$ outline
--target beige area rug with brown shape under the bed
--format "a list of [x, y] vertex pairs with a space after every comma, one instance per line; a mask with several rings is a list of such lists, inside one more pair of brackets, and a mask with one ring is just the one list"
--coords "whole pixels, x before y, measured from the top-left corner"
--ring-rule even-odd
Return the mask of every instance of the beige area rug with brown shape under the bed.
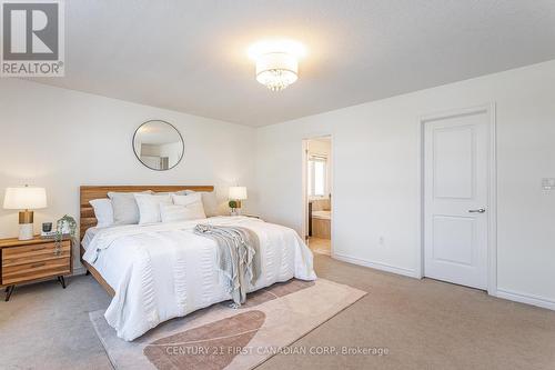
[[[133, 342], [117, 337], [103, 310], [89, 316], [118, 370], [244, 370], [285, 353], [289, 344], [365, 294], [324, 279], [293, 279], [249, 294], [240, 309], [214, 304], [164, 322]], [[310, 354], [317, 349], [295, 350]]]

